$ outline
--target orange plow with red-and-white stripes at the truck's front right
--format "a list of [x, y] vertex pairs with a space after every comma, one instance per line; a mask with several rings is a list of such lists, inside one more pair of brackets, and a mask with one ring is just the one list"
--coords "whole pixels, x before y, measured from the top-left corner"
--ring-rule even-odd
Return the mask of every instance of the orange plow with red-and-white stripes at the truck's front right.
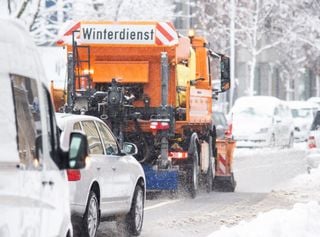
[[234, 192], [236, 181], [232, 171], [233, 151], [236, 142], [231, 139], [217, 140], [217, 158], [215, 162], [216, 174], [212, 188], [221, 192]]

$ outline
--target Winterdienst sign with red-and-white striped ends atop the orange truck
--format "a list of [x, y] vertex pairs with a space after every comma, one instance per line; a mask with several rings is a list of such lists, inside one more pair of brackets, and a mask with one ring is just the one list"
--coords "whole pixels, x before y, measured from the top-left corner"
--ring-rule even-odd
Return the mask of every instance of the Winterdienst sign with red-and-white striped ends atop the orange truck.
[[60, 31], [58, 45], [72, 44], [154, 45], [178, 44], [178, 34], [170, 22], [68, 22]]

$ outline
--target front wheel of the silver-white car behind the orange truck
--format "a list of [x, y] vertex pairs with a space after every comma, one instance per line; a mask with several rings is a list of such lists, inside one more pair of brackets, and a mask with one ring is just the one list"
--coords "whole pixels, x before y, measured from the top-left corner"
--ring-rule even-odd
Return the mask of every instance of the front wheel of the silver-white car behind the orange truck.
[[144, 191], [137, 185], [131, 203], [130, 211], [124, 217], [117, 219], [117, 226], [126, 236], [138, 236], [141, 233], [144, 216]]

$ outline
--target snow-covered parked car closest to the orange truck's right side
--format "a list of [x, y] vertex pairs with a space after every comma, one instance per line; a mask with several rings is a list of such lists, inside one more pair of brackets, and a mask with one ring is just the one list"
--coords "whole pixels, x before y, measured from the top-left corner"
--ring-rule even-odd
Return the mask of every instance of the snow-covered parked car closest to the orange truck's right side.
[[245, 96], [235, 101], [228, 117], [237, 147], [292, 147], [293, 120], [284, 101], [272, 96]]

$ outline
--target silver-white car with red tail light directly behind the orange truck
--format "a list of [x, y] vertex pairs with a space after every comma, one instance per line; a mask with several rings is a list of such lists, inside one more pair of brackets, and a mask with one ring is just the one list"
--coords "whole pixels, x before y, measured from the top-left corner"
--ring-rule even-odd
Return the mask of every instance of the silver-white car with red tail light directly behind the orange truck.
[[88, 165], [68, 170], [74, 232], [94, 237], [100, 220], [115, 217], [122, 231], [139, 235], [143, 224], [145, 175], [132, 156], [137, 147], [124, 143], [121, 150], [109, 127], [99, 118], [57, 113], [61, 144], [80, 130], [88, 138]]

